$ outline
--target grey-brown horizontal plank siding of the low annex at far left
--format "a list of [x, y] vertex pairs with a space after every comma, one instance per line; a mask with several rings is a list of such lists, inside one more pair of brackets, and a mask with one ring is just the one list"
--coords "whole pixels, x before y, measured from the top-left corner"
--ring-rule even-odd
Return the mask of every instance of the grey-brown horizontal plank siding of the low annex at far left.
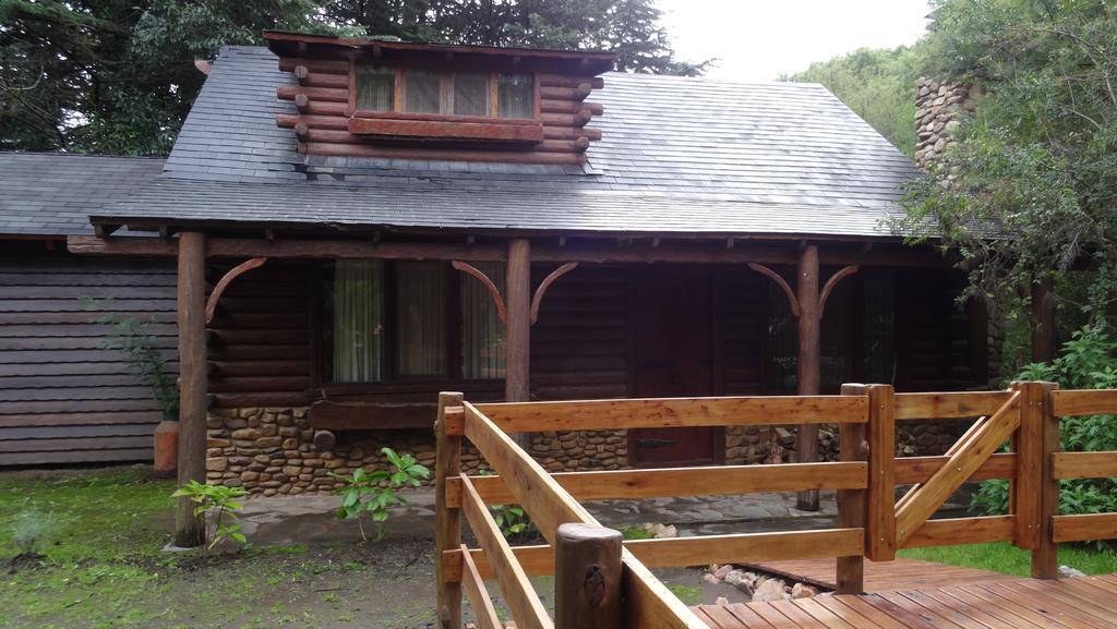
[[166, 260], [0, 258], [0, 465], [151, 458], [162, 414], [93, 320], [150, 322], [176, 369], [174, 283]]

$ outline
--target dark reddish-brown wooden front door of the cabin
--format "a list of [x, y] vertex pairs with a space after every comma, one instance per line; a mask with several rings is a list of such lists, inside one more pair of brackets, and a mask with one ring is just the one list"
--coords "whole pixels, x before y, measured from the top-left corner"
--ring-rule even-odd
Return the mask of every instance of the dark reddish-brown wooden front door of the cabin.
[[[634, 395], [713, 393], [713, 273], [696, 265], [650, 265], [637, 271], [633, 308]], [[725, 458], [720, 428], [629, 431], [634, 466], [700, 465]]]

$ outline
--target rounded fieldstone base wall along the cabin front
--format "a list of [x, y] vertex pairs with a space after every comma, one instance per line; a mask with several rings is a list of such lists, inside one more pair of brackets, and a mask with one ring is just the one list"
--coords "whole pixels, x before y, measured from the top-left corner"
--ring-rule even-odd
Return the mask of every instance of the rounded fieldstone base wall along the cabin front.
[[[306, 408], [217, 409], [210, 412], [207, 428], [207, 480], [265, 496], [331, 493], [336, 486], [331, 471], [385, 468], [388, 461], [380, 451], [385, 446], [414, 455], [427, 467], [435, 465], [435, 436], [429, 430], [338, 432], [331, 450], [318, 450]], [[964, 428], [964, 422], [954, 421], [900, 422], [897, 455], [941, 455]], [[837, 460], [834, 427], [821, 426], [819, 441], [820, 458]], [[790, 463], [794, 449], [793, 429], [733, 426], [725, 430], [728, 465]], [[631, 467], [626, 430], [538, 432], [529, 451], [551, 473]], [[467, 445], [461, 467], [477, 474], [488, 465]]]

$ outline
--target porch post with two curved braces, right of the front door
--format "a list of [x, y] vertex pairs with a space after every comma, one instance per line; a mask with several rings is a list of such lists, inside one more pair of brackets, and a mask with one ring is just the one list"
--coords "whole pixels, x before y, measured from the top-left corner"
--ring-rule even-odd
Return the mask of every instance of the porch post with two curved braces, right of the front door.
[[[796, 361], [800, 395], [818, 395], [821, 372], [819, 366], [821, 331], [819, 316], [819, 247], [806, 245], [799, 251], [796, 267], [796, 290], [799, 301], [799, 358]], [[819, 426], [799, 427], [795, 440], [799, 463], [813, 463], [819, 458]], [[819, 511], [819, 492], [811, 489], [799, 493], [796, 506], [802, 511]]]

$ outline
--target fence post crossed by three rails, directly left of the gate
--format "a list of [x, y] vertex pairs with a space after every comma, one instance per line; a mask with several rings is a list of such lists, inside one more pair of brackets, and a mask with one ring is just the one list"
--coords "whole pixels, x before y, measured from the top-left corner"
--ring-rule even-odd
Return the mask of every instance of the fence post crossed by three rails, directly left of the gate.
[[[842, 395], [868, 395], [865, 384], [842, 384]], [[869, 413], [871, 417], [871, 412]], [[839, 458], [843, 461], [869, 459], [868, 429], [865, 423], [842, 423], [839, 428], [841, 439]], [[868, 518], [868, 492], [866, 489], [838, 490], [838, 526], [842, 528], [863, 528]], [[837, 583], [839, 594], [860, 594], [865, 592], [865, 557], [840, 556], [837, 566]]]

